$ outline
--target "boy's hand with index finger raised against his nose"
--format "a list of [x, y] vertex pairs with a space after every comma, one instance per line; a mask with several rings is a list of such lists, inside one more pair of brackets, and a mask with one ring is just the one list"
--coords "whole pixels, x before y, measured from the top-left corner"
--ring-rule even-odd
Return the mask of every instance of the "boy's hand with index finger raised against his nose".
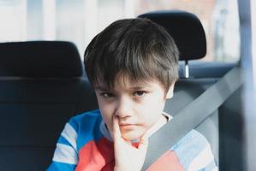
[[113, 132], [115, 150], [114, 171], [140, 171], [146, 158], [148, 137], [144, 135], [140, 138], [138, 148], [126, 139], [122, 139], [118, 118], [113, 116]]

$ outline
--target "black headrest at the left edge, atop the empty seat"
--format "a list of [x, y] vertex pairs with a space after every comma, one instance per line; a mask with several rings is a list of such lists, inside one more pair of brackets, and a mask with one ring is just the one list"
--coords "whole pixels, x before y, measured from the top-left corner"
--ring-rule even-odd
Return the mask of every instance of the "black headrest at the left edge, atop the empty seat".
[[67, 78], [82, 74], [79, 52], [70, 42], [0, 43], [0, 76]]

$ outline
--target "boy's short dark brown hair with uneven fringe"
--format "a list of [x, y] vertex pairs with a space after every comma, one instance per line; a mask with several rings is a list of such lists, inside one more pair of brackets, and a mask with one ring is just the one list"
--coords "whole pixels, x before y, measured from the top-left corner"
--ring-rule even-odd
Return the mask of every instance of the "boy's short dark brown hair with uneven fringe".
[[92, 39], [85, 52], [86, 74], [92, 85], [112, 87], [116, 75], [134, 81], [158, 80], [167, 92], [178, 79], [179, 52], [163, 27], [147, 19], [115, 21]]

